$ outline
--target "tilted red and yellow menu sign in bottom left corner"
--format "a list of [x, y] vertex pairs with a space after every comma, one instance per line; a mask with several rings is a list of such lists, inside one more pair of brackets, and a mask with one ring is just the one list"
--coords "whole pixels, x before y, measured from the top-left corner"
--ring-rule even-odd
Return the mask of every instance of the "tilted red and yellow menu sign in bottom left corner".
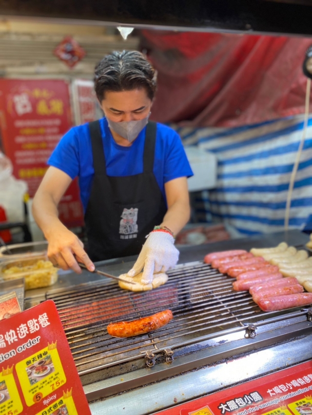
[[52, 300], [0, 322], [0, 415], [91, 415]]

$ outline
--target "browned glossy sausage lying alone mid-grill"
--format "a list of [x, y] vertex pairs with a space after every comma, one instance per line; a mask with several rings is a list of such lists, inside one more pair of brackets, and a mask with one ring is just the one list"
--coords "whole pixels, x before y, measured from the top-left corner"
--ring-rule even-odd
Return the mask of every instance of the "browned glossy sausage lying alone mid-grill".
[[171, 310], [160, 311], [138, 320], [110, 323], [107, 326], [107, 332], [113, 337], [138, 336], [168, 324], [173, 318]]

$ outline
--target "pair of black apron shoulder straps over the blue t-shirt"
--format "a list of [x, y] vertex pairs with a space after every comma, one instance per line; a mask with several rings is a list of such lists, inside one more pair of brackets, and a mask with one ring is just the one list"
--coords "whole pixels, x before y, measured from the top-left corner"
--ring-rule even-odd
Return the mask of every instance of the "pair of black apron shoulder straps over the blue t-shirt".
[[[106, 175], [105, 154], [99, 121], [97, 120], [90, 122], [89, 129], [91, 137], [94, 172], [95, 174]], [[156, 130], [157, 124], [154, 121], [149, 121], [146, 126], [145, 133], [143, 173], [153, 173]]]

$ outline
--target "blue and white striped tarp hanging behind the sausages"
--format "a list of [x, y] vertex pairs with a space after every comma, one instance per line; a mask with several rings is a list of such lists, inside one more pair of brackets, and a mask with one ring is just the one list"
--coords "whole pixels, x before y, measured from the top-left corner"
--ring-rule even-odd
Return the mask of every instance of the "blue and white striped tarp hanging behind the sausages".
[[[198, 145], [217, 156], [217, 186], [201, 192], [195, 201], [200, 221], [223, 221], [240, 235], [284, 229], [302, 115], [253, 126], [176, 129], [185, 146]], [[302, 229], [311, 214], [312, 118], [295, 178], [289, 228]]]

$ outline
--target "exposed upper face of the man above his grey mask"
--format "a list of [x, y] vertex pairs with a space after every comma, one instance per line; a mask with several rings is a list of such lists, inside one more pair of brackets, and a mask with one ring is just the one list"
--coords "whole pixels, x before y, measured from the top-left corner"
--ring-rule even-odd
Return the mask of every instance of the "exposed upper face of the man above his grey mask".
[[138, 121], [146, 118], [152, 107], [152, 101], [144, 88], [105, 92], [101, 108], [107, 118], [117, 123]]

